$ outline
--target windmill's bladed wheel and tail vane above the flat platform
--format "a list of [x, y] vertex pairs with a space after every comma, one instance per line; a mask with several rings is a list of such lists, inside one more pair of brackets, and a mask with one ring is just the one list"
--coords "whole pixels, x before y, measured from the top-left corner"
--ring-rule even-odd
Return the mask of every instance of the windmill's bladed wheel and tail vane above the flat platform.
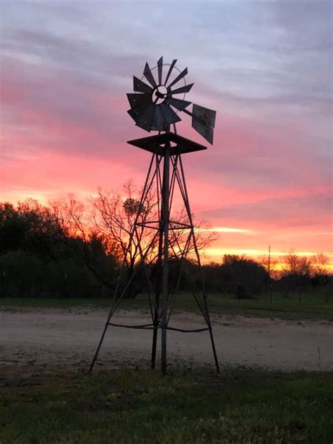
[[[192, 128], [213, 144], [216, 111], [184, 100], [194, 84], [186, 84], [188, 69], [178, 70], [176, 62], [164, 64], [161, 57], [152, 69], [145, 64], [141, 79], [133, 76], [134, 93], [127, 94], [131, 107], [128, 113], [136, 126], [150, 132], [168, 131], [181, 122], [179, 112], [184, 112], [192, 117]], [[187, 109], [190, 105], [192, 112]]]

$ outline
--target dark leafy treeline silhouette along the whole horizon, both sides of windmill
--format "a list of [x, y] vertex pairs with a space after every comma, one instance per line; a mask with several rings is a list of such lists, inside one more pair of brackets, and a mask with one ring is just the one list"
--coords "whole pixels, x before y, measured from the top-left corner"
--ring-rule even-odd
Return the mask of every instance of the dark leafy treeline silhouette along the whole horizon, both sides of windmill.
[[[129, 203], [131, 211], [136, 207], [133, 197], [131, 202], [112, 199], [115, 206], [120, 207], [119, 214], [125, 211], [124, 216], [129, 221]], [[59, 205], [46, 207], [31, 199], [16, 206], [8, 202], [0, 204], [1, 296], [112, 296], [124, 259], [124, 246], [120, 243], [123, 241], [117, 241], [117, 237], [108, 235], [105, 230], [98, 230], [98, 226], [84, 231], [78, 212], [67, 211], [67, 216], [69, 214], [72, 221], [76, 221], [74, 226], [65, 223]], [[209, 242], [211, 239], [203, 241], [202, 246]], [[190, 291], [199, 281], [197, 266], [190, 260], [185, 262], [187, 273], [183, 273], [179, 283], [182, 292]], [[306, 258], [290, 253], [277, 274], [275, 264], [267, 257], [259, 262], [228, 254], [223, 256], [221, 263], [204, 265], [203, 274], [208, 292], [251, 299], [263, 292], [272, 292], [274, 288], [288, 296], [289, 292], [301, 294], [309, 287], [325, 287], [328, 292], [332, 278], [327, 272], [327, 263], [323, 254]], [[124, 281], [136, 266], [134, 257], [129, 261]], [[171, 260], [171, 286], [176, 287], [181, 266], [179, 259]], [[143, 292], [144, 280], [143, 270], [138, 270], [126, 296], [135, 297]]]

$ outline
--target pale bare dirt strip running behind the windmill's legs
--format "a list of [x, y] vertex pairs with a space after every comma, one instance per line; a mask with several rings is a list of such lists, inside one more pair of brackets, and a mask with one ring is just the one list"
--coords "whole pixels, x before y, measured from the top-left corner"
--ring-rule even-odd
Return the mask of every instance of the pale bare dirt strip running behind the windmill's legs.
[[[0, 311], [0, 381], [16, 375], [52, 372], [55, 367], [86, 370], [96, 350], [107, 311], [92, 308], [2, 309]], [[113, 322], [150, 323], [150, 315], [120, 311]], [[221, 365], [275, 370], [333, 370], [332, 323], [213, 315]], [[170, 326], [204, 327], [199, 315], [176, 313]], [[149, 365], [151, 330], [109, 327], [96, 369]], [[173, 364], [212, 365], [208, 332], [168, 332]]]

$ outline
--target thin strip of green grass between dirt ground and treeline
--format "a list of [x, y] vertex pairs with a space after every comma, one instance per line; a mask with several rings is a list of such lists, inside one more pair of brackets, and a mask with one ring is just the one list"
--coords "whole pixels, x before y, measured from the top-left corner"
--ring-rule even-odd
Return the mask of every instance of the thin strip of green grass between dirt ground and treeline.
[[[320, 294], [304, 294], [301, 302], [298, 294], [285, 298], [280, 294], [273, 295], [273, 303], [266, 296], [259, 299], [237, 300], [227, 295], [209, 294], [209, 309], [211, 313], [225, 315], [259, 316], [266, 318], [281, 318], [290, 320], [320, 319], [333, 320], [333, 300], [328, 302]], [[93, 308], [110, 307], [111, 299], [97, 298], [3, 298], [2, 307], [28, 308], [73, 308], [90, 306]], [[119, 308], [148, 310], [148, 299], [144, 295], [136, 299], [124, 299]], [[190, 294], [179, 294], [174, 301], [176, 310], [195, 311], [197, 306]]]

